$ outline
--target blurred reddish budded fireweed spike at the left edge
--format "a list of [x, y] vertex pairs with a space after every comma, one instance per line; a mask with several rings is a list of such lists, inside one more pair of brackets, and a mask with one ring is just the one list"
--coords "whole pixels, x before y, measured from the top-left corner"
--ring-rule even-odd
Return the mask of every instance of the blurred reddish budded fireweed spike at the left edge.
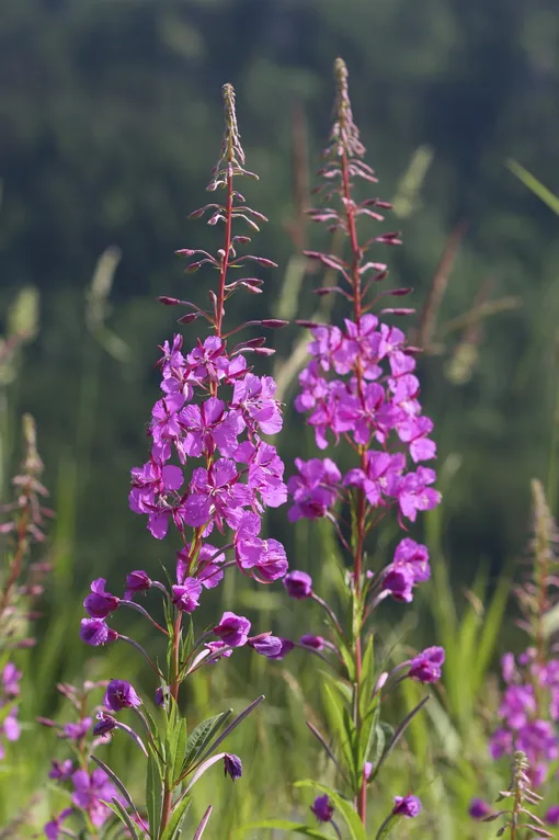
[[35, 645], [32, 623], [38, 617], [35, 601], [43, 592], [43, 580], [50, 570], [44, 559], [35, 560], [33, 553], [44, 542], [45, 519], [53, 511], [45, 508], [48, 496], [41, 483], [43, 462], [38, 455], [35, 422], [23, 416], [25, 455], [12, 479], [14, 498], [0, 507], [3, 522], [0, 535], [5, 535], [5, 565], [0, 571], [0, 761], [8, 758], [8, 742], [20, 737], [18, 697], [23, 676], [22, 657]]

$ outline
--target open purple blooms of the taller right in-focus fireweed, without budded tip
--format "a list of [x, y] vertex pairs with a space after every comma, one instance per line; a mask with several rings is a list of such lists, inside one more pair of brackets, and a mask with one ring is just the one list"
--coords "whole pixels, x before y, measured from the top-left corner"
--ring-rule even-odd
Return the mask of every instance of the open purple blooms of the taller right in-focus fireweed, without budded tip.
[[312, 359], [299, 376], [295, 406], [308, 413], [320, 449], [329, 436], [334, 443], [344, 438], [366, 449], [366, 456], [343, 477], [330, 458], [297, 459], [298, 475], [288, 484], [295, 502], [289, 517], [323, 517], [343, 488], [360, 487], [373, 508], [398, 506], [399, 517], [414, 522], [418, 511], [441, 500], [431, 486], [433, 469], [408, 469], [408, 455], [414, 465], [436, 455], [429, 438], [433, 423], [421, 413], [415, 359], [403, 332], [372, 314], [344, 323], [344, 329], [313, 328]]

